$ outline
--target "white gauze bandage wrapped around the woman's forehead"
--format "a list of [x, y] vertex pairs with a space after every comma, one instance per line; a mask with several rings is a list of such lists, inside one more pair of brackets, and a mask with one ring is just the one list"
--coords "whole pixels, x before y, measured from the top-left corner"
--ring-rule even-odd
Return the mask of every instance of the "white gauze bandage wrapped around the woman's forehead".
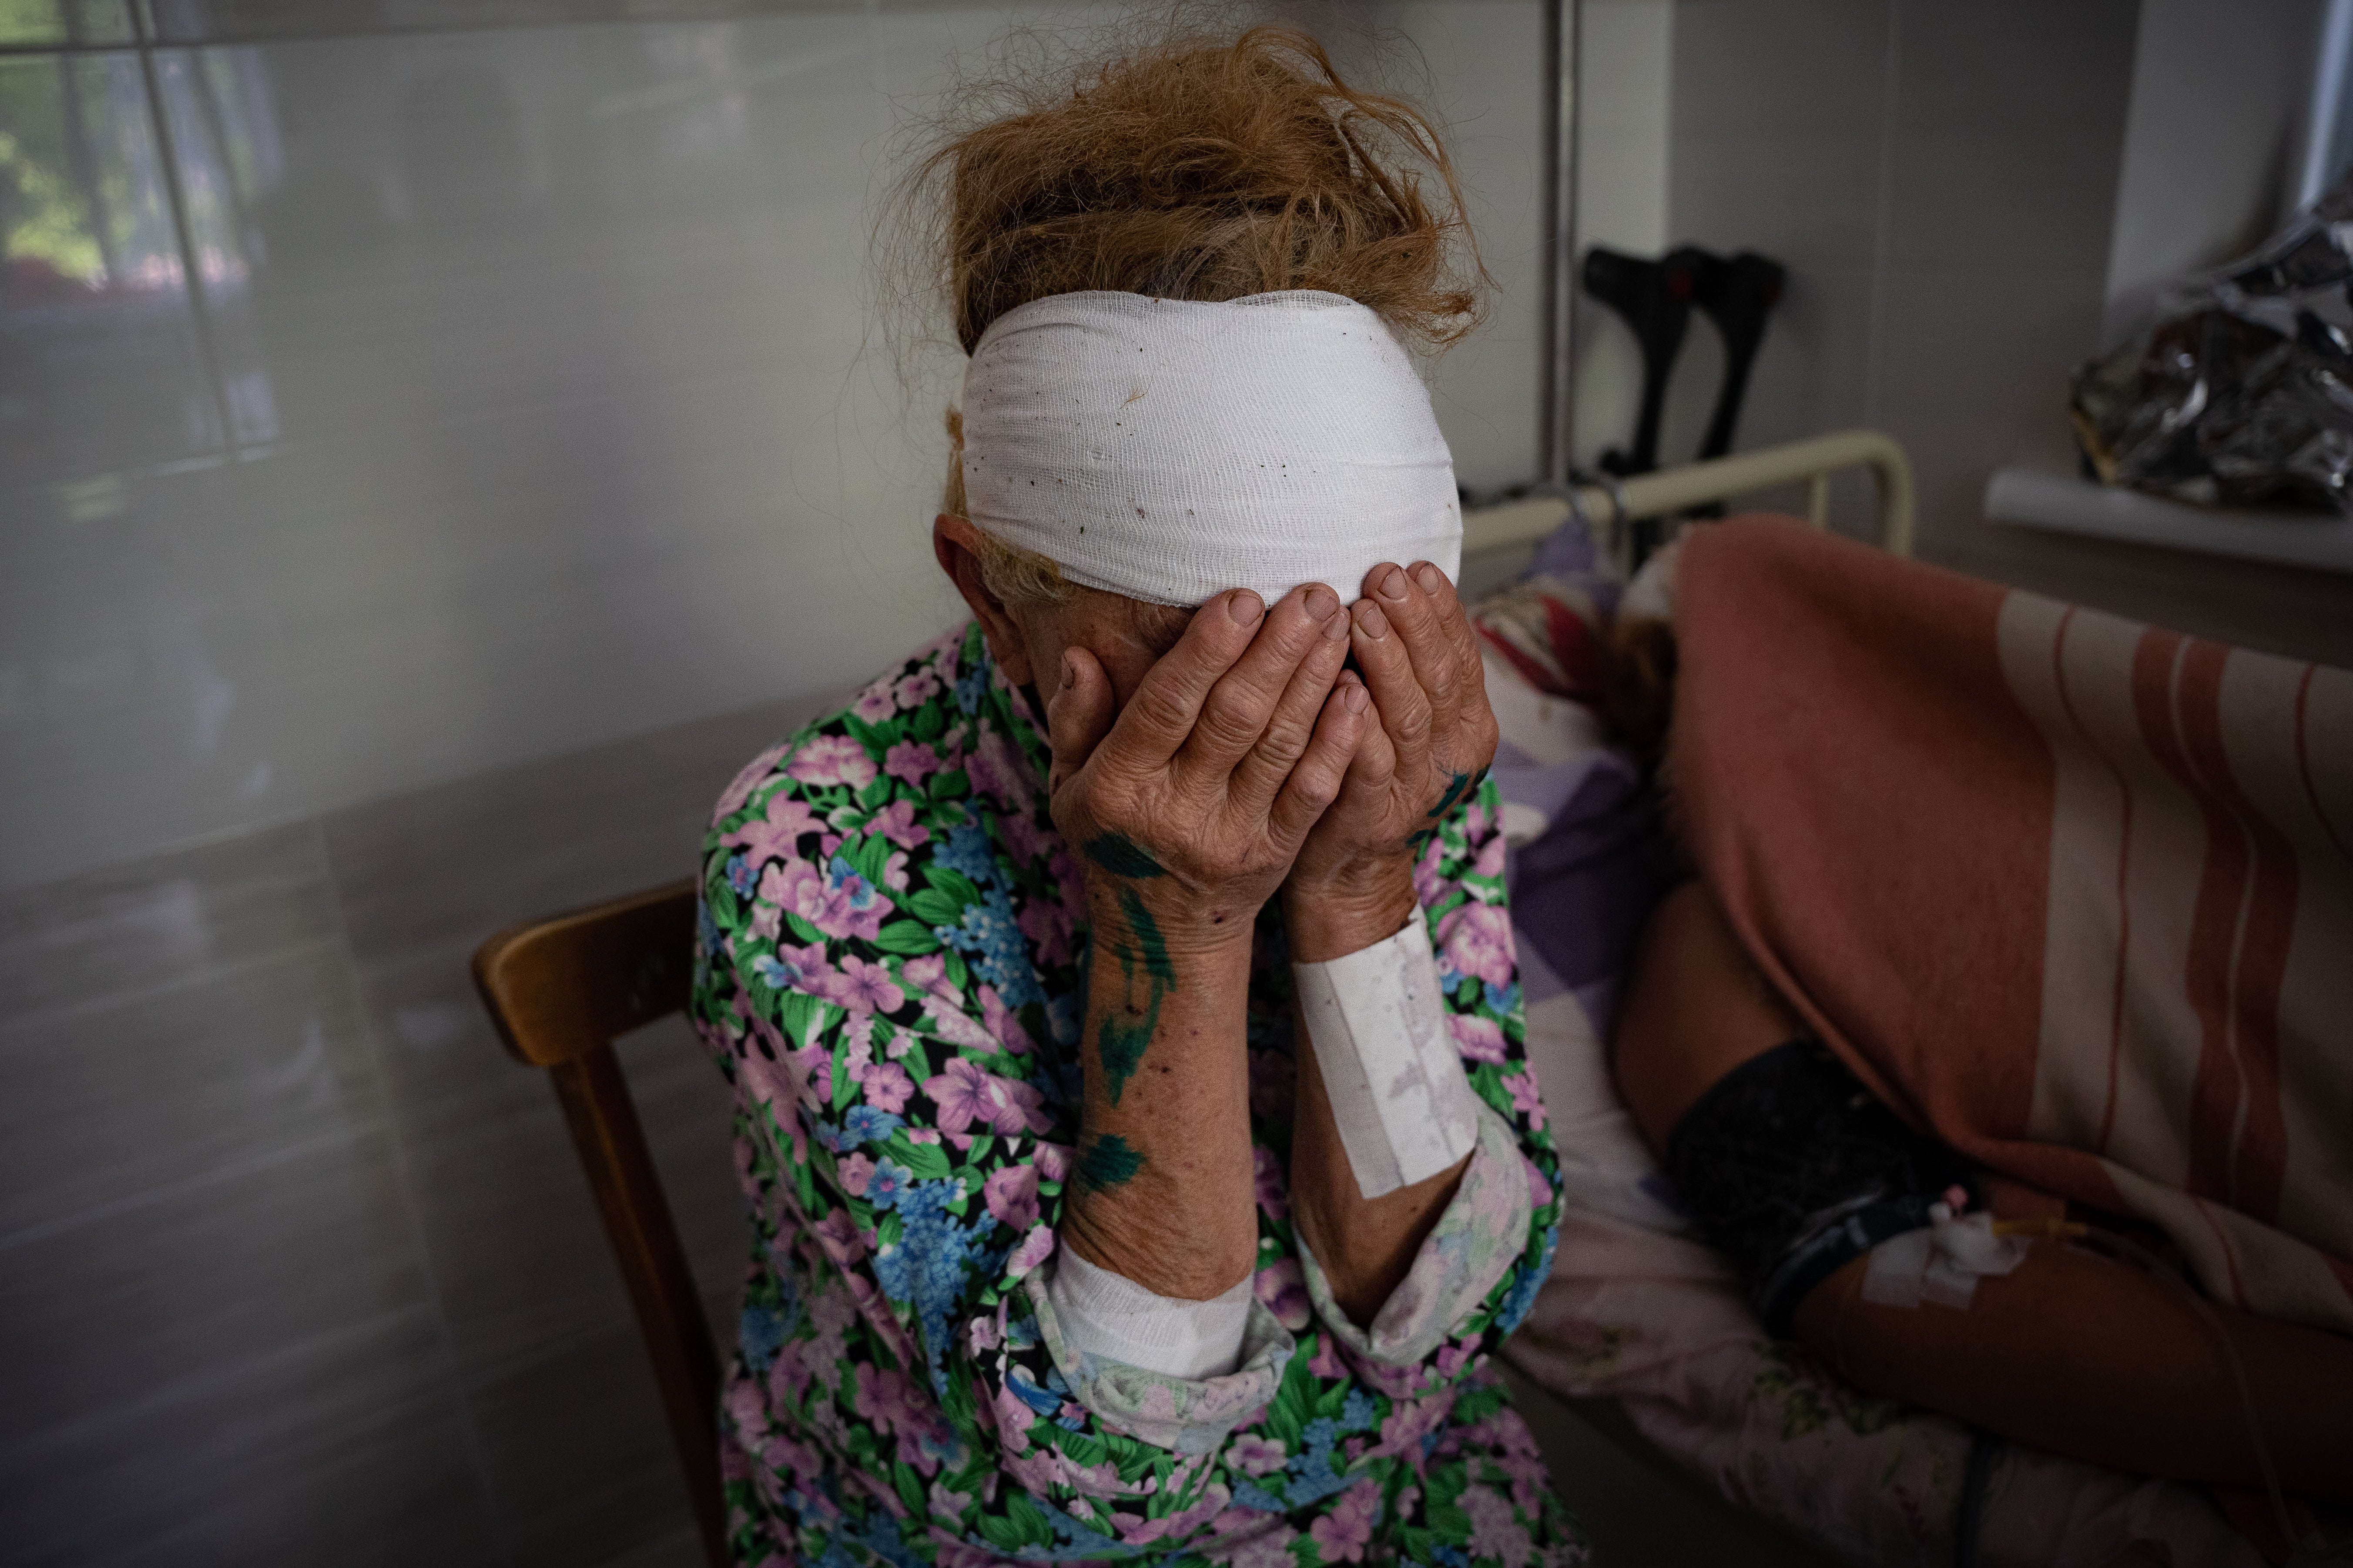
[[1461, 567], [1454, 456], [1379, 315], [1315, 289], [1054, 294], [965, 367], [965, 510], [1073, 583], [1148, 604], [1379, 562]]

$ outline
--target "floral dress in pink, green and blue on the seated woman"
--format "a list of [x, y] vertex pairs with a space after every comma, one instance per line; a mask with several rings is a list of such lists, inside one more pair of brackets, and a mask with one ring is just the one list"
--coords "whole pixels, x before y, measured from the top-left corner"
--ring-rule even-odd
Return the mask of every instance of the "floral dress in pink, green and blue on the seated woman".
[[1480, 1150], [1351, 1324], [1292, 1232], [1292, 994], [1259, 922], [1242, 1366], [1073, 1352], [1040, 1265], [1078, 1135], [1087, 919], [1047, 748], [976, 625], [755, 759], [704, 842], [692, 1016], [753, 1215], [722, 1392], [741, 1563], [1572, 1563], [1487, 1356], [1558, 1234], [1494, 785], [1417, 865]]

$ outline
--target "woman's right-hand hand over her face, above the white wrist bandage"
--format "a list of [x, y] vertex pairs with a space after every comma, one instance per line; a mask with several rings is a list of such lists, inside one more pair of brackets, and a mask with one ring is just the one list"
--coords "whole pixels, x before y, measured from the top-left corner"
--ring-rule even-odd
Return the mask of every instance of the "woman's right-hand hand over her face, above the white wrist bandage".
[[1447, 576], [1428, 562], [1409, 574], [1374, 567], [1351, 618], [1379, 724], [1367, 726], [1339, 799], [1299, 851], [1292, 898], [1351, 900], [1398, 886], [1494, 762], [1487, 670]]

